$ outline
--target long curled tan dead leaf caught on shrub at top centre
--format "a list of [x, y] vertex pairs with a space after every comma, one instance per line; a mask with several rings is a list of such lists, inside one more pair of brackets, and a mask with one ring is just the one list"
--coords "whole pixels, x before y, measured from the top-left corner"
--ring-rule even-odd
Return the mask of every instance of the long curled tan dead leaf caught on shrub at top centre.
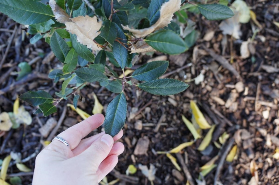
[[[144, 29], [133, 29], [129, 28], [127, 24], [123, 24], [122, 27], [125, 30], [130, 31], [136, 38], [143, 38], [149, 35], [153, 31], [159, 30], [160, 28], [166, 27], [171, 23], [173, 14], [180, 9], [181, 0], [169, 0], [162, 4], [160, 8], [160, 17], [152, 26]], [[154, 19], [155, 20], [155, 19]], [[124, 26], [126, 25], [126, 26]]]

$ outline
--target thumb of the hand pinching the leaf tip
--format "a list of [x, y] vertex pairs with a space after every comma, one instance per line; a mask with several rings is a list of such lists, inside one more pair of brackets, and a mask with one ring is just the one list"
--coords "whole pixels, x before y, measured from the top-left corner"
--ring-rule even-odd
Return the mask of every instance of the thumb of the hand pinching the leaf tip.
[[84, 159], [89, 160], [91, 164], [93, 163], [93, 169], [97, 170], [101, 162], [107, 158], [112, 146], [113, 138], [108, 134], [104, 134], [96, 139], [79, 157], [83, 161]]

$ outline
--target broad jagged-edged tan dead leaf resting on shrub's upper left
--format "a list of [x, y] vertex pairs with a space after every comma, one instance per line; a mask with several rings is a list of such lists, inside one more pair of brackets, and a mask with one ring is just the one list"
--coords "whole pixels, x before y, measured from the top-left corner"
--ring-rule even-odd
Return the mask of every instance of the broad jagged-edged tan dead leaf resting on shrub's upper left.
[[49, 0], [49, 6], [51, 7], [53, 14], [57, 21], [64, 23], [66, 29], [71, 34], [77, 35], [77, 41], [87, 48], [92, 50], [102, 50], [101, 47], [94, 42], [94, 39], [101, 33], [99, 30], [102, 27], [102, 21], [97, 21], [97, 17], [78, 16], [70, 18], [66, 12], [60, 8], [55, 0]]

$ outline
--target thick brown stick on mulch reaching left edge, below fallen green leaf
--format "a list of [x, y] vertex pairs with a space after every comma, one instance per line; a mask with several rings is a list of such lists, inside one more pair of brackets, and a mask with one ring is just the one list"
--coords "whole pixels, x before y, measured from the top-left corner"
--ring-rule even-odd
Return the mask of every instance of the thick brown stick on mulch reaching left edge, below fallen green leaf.
[[13, 83], [11, 85], [9, 85], [8, 87], [0, 89], [0, 95], [5, 94], [6, 92], [9, 92], [9, 91], [13, 90], [18, 85], [25, 84], [28, 81], [32, 81], [32, 80], [35, 80], [35, 79], [38, 79], [38, 78], [50, 80], [48, 75], [42, 74], [42, 73], [38, 73], [38, 72], [34, 72], [34, 73], [31, 73], [31, 74], [25, 76], [21, 80]]

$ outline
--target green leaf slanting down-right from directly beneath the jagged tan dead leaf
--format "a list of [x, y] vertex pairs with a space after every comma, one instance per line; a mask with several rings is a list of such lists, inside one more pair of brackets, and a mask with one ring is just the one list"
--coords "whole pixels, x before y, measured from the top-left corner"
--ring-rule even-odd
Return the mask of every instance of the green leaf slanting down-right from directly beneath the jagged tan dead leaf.
[[74, 50], [78, 53], [79, 56], [81, 56], [83, 59], [89, 62], [94, 62], [95, 60], [94, 54], [91, 51], [89, 51], [89, 49], [85, 45], [77, 41], [76, 35], [71, 34], [71, 42], [74, 47]]

